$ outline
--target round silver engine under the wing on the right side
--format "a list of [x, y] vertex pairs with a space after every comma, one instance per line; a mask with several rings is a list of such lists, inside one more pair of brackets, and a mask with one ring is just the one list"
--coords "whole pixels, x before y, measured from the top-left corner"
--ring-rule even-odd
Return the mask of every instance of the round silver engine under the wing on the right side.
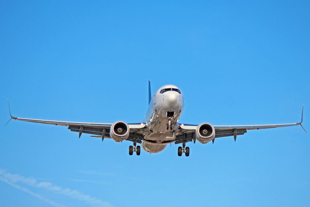
[[200, 143], [206, 144], [215, 137], [215, 129], [212, 124], [209, 123], [199, 124], [195, 131], [195, 136]]

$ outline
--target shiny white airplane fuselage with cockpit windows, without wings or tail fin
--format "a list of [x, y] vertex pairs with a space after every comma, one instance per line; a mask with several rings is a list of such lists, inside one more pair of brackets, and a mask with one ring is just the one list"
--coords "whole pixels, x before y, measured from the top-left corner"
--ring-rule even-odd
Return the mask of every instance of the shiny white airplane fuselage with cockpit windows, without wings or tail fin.
[[157, 153], [174, 142], [174, 132], [179, 127], [178, 121], [183, 108], [183, 93], [175, 85], [162, 86], [154, 93], [144, 117], [148, 128], [142, 143], [145, 151]]

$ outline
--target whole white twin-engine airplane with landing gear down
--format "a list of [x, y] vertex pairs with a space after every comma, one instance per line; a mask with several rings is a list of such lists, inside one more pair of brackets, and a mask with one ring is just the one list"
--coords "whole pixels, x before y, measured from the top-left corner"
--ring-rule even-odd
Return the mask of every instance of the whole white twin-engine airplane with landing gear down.
[[[91, 137], [100, 137], [102, 141], [104, 138], [111, 138], [116, 142], [131, 141], [133, 145], [129, 146], [129, 155], [132, 155], [133, 152], [136, 152], [136, 155], [140, 155], [141, 147], [137, 146], [137, 143], [141, 144], [142, 149], [149, 153], [163, 151], [168, 144], [173, 142], [175, 144], [182, 143], [182, 147], [178, 147], [178, 156], [181, 156], [183, 153], [185, 156], [189, 156], [189, 147], [185, 147], [187, 142], [195, 144], [196, 140], [198, 140], [202, 144], [210, 141], [214, 143], [215, 138], [228, 136], [233, 136], [236, 142], [237, 136], [243, 135], [247, 130], [296, 125], [300, 125], [303, 128], [301, 125], [303, 122], [303, 109], [299, 123], [225, 126], [216, 126], [206, 122], [199, 125], [179, 124], [179, 118], [183, 109], [184, 96], [180, 88], [175, 85], [165, 85], [159, 88], [152, 97], [149, 80], [148, 109], [142, 123], [127, 124], [124, 121], [116, 121], [111, 124], [105, 124], [19, 118], [11, 115], [10, 106], [9, 113], [11, 119], [15, 120], [67, 126], [71, 131], [78, 132], [79, 138], [82, 133], [86, 133], [91, 134]], [[303, 130], [305, 129], [303, 128]]]

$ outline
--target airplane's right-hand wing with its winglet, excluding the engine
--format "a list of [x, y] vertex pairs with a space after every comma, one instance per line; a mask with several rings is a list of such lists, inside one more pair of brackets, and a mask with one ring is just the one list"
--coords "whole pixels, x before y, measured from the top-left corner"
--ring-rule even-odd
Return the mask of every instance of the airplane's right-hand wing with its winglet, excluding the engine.
[[[212, 143], [214, 143], [215, 138], [229, 137], [229, 136], [233, 136], [236, 141], [237, 135], [242, 135], [246, 133], [247, 130], [252, 130], [252, 129], [268, 129], [268, 128], [289, 127], [289, 126], [297, 126], [297, 125], [300, 125], [303, 128], [303, 126], [301, 125], [302, 122], [303, 122], [303, 110], [301, 114], [301, 121], [299, 123], [264, 124], [264, 125], [216, 125], [216, 126], [213, 126], [215, 129], [215, 137], [212, 140]], [[185, 142], [193, 141], [195, 143], [196, 141], [195, 131], [196, 131], [197, 126], [198, 125], [181, 124], [179, 126], [180, 134], [176, 136], [175, 144], [182, 143], [184, 140]], [[303, 128], [303, 130], [305, 129]]]

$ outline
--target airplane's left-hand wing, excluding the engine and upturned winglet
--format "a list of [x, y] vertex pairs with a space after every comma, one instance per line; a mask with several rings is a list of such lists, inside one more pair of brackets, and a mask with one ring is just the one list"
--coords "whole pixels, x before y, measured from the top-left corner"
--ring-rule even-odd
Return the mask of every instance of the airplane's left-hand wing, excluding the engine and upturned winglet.
[[[11, 112], [10, 112], [11, 116]], [[102, 137], [102, 141], [104, 138], [110, 138], [110, 127], [112, 124], [106, 123], [88, 123], [88, 122], [70, 122], [70, 121], [54, 121], [54, 120], [44, 120], [44, 119], [27, 119], [27, 118], [19, 118], [11, 116], [11, 119], [20, 120], [20, 121], [28, 121], [34, 123], [42, 123], [42, 124], [53, 124], [60, 126], [68, 126], [68, 129], [72, 132], [78, 132], [79, 138], [82, 133], [97, 135], [95, 137]], [[10, 119], [10, 120], [11, 120]], [[126, 139], [128, 141], [133, 142], [134, 133], [137, 139], [137, 143], [141, 143], [144, 135], [144, 128], [146, 126], [145, 123], [138, 124], [128, 124], [130, 132], [129, 137]]]

